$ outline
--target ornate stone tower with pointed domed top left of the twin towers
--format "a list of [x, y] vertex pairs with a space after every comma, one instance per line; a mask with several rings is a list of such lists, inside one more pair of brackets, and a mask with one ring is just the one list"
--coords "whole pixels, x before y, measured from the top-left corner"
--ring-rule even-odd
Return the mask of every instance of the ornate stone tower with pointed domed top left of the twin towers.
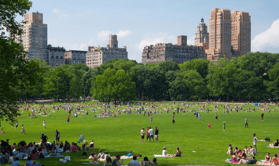
[[205, 25], [203, 18], [197, 27], [197, 32], [195, 36], [195, 45], [203, 46], [204, 50], [208, 49], [208, 32], [207, 32], [207, 25]]

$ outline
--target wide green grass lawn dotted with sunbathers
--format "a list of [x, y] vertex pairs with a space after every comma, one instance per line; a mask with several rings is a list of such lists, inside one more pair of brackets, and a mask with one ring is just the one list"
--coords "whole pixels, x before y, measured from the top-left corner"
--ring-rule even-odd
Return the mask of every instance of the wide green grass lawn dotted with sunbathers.
[[[90, 101], [87, 101], [90, 103]], [[92, 103], [92, 102], [91, 102]], [[90, 103], [90, 104], [91, 104]], [[185, 103], [185, 102], [183, 102]], [[55, 103], [58, 104], [57, 102]], [[64, 105], [63, 103], [59, 103]], [[77, 104], [77, 103], [74, 103]], [[96, 101], [95, 101], [96, 104]], [[159, 102], [156, 104], [160, 104]], [[163, 110], [163, 107], [172, 106], [177, 108], [181, 106], [181, 102], [162, 103], [159, 110]], [[38, 104], [34, 104], [36, 107]], [[203, 104], [202, 104], [203, 105]], [[190, 106], [187, 110], [197, 110], [202, 105]], [[116, 118], [94, 118], [94, 112], [90, 110], [89, 115], [79, 115], [83, 118], [74, 118], [71, 115], [70, 124], [67, 122], [68, 112], [64, 112], [60, 108], [59, 111], [51, 113], [51, 116], [42, 117], [38, 115], [38, 118], [29, 118], [28, 112], [21, 113], [21, 117], [18, 117], [18, 129], [15, 130], [15, 126], [10, 126], [5, 121], [2, 121], [1, 128], [4, 129], [5, 134], [0, 134], [1, 140], [9, 139], [10, 144], [14, 142], [25, 140], [29, 142], [39, 142], [41, 134], [44, 133], [49, 137], [48, 141], [55, 140], [54, 132], [57, 129], [60, 132], [60, 141], [65, 142], [77, 142], [81, 134], [84, 135], [84, 140], [94, 140], [95, 148], [90, 148], [87, 151], [87, 157], [81, 156], [82, 152], [78, 153], [62, 153], [64, 155], [71, 156], [71, 162], [67, 162], [67, 165], [81, 165], [83, 162], [88, 162], [86, 159], [90, 155], [90, 152], [94, 149], [96, 152], [99, 149], [108, 151], [111, 156], [127, 155], [129, 151], [133, 151], [133, 154], [142, 154], [139, 161], [143, 160], [144, 156], [147, 156], [152, 161], [153, 154], [162, 154], [164, 146], [167, 147], [167, 154], [175, 154], [176, 148], [179, 147], [183, 152], [183, 156], [180, 158], [157, 158], [159, 165], [186, 165], [186, 164], [207, 164], [207, 165], [231, 165], [226, 163], [227, 158], [231, 158], [226, 154], [228, 145], [232, 144], [233, 148], [244, 149], [245, 145], [250, 146], [252, 144], [252, 135], [256, 133], [259, 140], [269, 137], [273, 143], [278, 136], [278, 106], [270, 105], [271, 111], [268, 112], [242, 112], [236, 111], [229, 113], [229, 115], [223, 114], [224, 104], [219, 104], [220, 110], [217, 111], [218, 121], [215, 120], [215, 111], [212, 104], [208, 105], [209, 114], [207, 112], [201, 112], [202, 121], [198, 121], [198, 118], [194, 117], [194, 112], [176, 112], [176, 123], [172, 125], [172, 112], [170, 108], [169, 115], [166, 112], [151, 114], [153, 116], [153, 124], [150, 124], [148, 115], [143, 117], [143, 114], [135, 114], [136, 110], [132, 110], [132, 115], [127, 114], [117, 115]], [[233, 104], [231, 104], [233, 105]], [[238, 104], [241, 105], [241, 104]], [[134, 105], [135, 106], [135, 105]], [[120, 108], [126, 108], [126, 105], [120, 106]], [[148, 105], [150, 107], [150, 105]], [[243, 108], [246, 110], [248, 107], [251, 109], [255, 106], [245, 105]], [[90, 109], [91, 107], [85, 107]], [[52, 110], [52, 107], [50, 107]], [[102, 109], [97, 109], [99, 113]], [[111, 108], [112, 111], [115, 109]], [[21, 110], [22, 111], [22, 110]], [[85, 111], [82, 111], [85, 112]], [[264, 113], [264, 121], [261, 121], [261, 114]], [[248, 117], [249, 128], [244, 128], [245, 118]], [[43, 120], [46, 120], [46, 129], [43, 129]], [[226, 122], [226, 129], [223, 131], [223, 120]], [[211, 128], [207, 128], [208, 122], [211, 124]], [[20, 133], [21, 124], [25, 126], [25, 134]], [[141, 143], [140, 130], [144, 127], [151, 126], [155, 130], [155, 127], [159, 129], [159, 142], [146, 142], [146, 138]], [[145, 136], [146, 137], [146, 136]], [[258, 141], [257, 150], [259, 152], [256, 155], [257, 160], [264, 160], [267, 152], [270, 152], [271, 156], [279, 151], [277, 148], [268, 148], [269, 142]], [[81, 146], [81, 144], [79, 144]], [[195, 152], [193, 152], [195, 151]], [[49, 166], [63, 165], [59, 162], [59, 157], [38, 159], [41, 164]], [[128, 164], [131, 159], [124, 159], [123, 164]], [[21, 160], [20, 165], [25, 164], [26, 160]], [[2, 164], [2, 166], [11, 164]], [[65, 164], [66, 165], [66, 164]]]

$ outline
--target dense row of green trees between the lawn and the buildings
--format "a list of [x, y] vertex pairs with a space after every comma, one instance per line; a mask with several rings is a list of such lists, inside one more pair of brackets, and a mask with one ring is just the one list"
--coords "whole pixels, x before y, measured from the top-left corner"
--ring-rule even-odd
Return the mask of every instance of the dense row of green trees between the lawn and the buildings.
[[51, 68], [44, 61], [31, 61], [44, 68], [44, 79], [29, 97], [258, 101], [279, 94], [279, 55], [267, 52], [249, 52], [231, 61], [219, 58], [215, 63], [194, 59], [179, 65], [172, 61], [143, 65], [114, 58], [94, 68], [85, 64]]

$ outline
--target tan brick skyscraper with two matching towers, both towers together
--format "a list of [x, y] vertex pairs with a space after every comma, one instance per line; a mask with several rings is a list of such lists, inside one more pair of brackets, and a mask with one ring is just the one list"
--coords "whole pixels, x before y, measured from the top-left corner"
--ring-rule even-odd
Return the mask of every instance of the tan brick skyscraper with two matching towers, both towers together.
[[231, 13], [214, 8], [209, 18], [208, 60], [239, 57], [251, 51], [251, 22], [248, 12]]

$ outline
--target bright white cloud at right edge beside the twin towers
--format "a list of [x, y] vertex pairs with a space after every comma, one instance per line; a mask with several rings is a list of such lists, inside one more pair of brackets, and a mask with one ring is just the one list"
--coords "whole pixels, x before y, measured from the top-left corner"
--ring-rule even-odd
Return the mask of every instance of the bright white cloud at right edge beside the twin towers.
[[258, 34], [251, 42], [251, 51], [268, 51], [266, 48], [279, 47], [279, 19], [275, 20], [271, 27]]

